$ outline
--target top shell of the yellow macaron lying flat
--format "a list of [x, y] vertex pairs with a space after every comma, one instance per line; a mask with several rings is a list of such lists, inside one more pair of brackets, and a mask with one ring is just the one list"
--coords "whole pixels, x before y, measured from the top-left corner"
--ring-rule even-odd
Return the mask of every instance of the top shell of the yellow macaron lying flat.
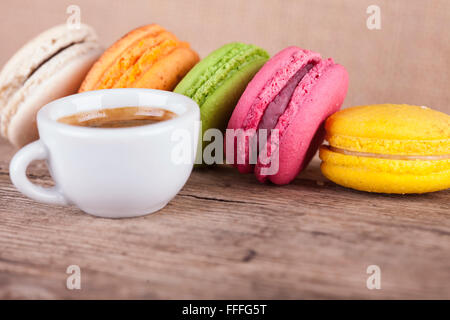
[[410, 105], [358, 106], [326, 123], [333, 147], [380, 154], [450, 154], [450, 116]]

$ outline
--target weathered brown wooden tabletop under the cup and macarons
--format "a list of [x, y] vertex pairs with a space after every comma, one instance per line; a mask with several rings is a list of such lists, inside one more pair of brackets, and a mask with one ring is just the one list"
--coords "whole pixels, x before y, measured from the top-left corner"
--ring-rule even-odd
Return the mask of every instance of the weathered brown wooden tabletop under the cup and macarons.
[[[357, 192], [318, 159], [284, 187], [219, 166], [158, 213], [109, 220], [22, 196], [13, 152], [0, 142], [0, 298], [450, 298], [450, 190]], [[29, 173], [51, 183], [42, 163]], [[81, 290], [66, 288], [69, 265]]]

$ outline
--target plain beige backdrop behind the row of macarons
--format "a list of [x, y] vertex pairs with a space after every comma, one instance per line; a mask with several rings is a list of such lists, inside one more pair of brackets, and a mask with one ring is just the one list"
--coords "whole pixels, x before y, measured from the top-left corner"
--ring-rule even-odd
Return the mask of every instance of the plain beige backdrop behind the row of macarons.
[[[15, 0], [0, 2], [0, 64], [42, 30], [64, 23], [70, 4], [105, 46], [156, 22], [201, 56], [230, 41], [274, 54], [288, 45], [320, 52], [350, 73], [345, 106], [427, 105], [450, 113], [450, 1], [411, 0]], [[381, 8], [381, 30], [366, 9]]]

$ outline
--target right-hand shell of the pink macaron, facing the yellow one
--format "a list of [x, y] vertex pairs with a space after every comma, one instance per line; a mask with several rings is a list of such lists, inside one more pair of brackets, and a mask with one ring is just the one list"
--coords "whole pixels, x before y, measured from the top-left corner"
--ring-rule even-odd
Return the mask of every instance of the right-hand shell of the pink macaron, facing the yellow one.
[[348, 88], [348, 74], [344, 67], [331, 59], [321, 60], [300, 81], [288, 108], [279, 118], [275, 129], [279, 130], [279, 146], [269, 150], [279, 152], [279, 170], [265, 175], [259, 160], [255, 175], [260, 181], [269, 179], [275, 184], [287, 184], [307, 166], [323, 141], [321, 126], [327, 117], [339, 110]]

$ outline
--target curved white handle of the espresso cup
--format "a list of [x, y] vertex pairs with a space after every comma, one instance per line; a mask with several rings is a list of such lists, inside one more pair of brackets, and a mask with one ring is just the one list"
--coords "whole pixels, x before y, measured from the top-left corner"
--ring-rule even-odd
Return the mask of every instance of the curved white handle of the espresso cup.
[[27, 197], [44, 203], [67, 205], [69, 202], [58, 186], [44, 188], [31, 183], [27, 177], [27, 168], [34, 160], [48, 159], [47, 147], [41, 140], [30, 143], [20, 149], [9, 164], [9, 175], [14, 186]]

